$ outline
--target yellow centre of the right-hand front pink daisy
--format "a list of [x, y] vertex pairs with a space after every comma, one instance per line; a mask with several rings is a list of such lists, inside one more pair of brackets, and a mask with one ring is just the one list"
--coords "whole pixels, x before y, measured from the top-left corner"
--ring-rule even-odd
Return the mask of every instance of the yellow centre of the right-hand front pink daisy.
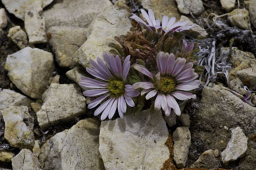
[[162, 93], [174, 92], [176, 81], [172, 77], [161, 77], [159, 82], [159, 91]]

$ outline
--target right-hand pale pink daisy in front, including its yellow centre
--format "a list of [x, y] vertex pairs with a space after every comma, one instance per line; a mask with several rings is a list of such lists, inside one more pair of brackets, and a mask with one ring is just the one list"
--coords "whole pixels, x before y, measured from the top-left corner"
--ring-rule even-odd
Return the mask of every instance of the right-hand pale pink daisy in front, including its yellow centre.
[[155, 110], [161, 108], [165, 115], [169, 116], [171, 110], [176, 115], [181, 114], [178, 100], [188, 100], [196, 98], [195, 94], [188, 91], [196, 89], [200, 85], [199, 80], [195, 80], [198, 74], [194, 72], [193, 64], [186, 63], [186, 59], [177, 58], [174, 54], [159, 52], [156, 57], [159, 73], [153, 76], [144, 66], [134, 64], [134, 68], [152, 79], [151, 82], [138, 82], [132, 85], [134, 89], [143, 88], [141, 95], [146, 94], [146, 100], [155, 98]]

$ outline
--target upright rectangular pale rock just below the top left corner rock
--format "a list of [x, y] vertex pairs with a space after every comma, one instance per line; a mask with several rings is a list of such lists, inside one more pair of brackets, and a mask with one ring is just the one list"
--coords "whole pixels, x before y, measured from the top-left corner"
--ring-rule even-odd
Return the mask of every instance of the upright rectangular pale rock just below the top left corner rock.
[[33, 9], [26, 10], [24, 18], [29, 43], [47, 42], [45, 18], [42, 17], [42, 12]]

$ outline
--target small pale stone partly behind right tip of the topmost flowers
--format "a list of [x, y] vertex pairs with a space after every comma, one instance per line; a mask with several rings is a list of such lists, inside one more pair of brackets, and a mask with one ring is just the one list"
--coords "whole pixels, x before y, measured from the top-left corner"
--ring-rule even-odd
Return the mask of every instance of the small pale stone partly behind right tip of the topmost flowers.
[[194, 24], [188, 17], [185, 16], [181, 16], [180, 21], [186, 21], [189, 20], [190, 22], [187, 25], [194, 25], [193, 28], [191, 28], [190, 30], [188, 30], [188, 34], [192, 37], [195, 38], [199, 38], [199, 39], [204, 39], [208, 36], [208, 33], [206, 32], [206, 30], [204, 28], [202, 28], [201, 26]]

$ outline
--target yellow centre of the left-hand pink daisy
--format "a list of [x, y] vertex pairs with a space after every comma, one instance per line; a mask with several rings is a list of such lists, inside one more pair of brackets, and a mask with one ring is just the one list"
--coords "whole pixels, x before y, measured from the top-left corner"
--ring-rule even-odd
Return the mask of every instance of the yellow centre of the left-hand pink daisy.
[[120, 80], [110, 80], [108, 89], [113, 97], [119, 97], [125, 93], [125, 83]]

